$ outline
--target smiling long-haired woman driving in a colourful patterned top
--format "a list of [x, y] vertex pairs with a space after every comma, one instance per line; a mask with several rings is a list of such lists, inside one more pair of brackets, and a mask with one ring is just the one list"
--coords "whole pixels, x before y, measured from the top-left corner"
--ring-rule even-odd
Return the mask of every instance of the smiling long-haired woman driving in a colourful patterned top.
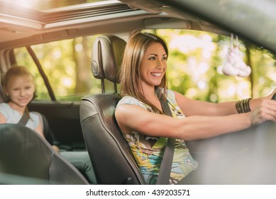
[[[137, 32], [128, 41], [121, 64], [123, 98], [115, 117], [148, 184], [159, 180], [169, 139], [175, 139], [175, 153], [165, 184], [177, 184], [197, 169], [184, 141], [241, 131], [266, 120], [276, 122], [276, 101], [270, 100], [276, 89], [266, 97], [221, 103], [189, 99], [168, 89], [168, 55], [160, 36]], [[167, 103], [172, 117], [165, 115], [162, 103]]]

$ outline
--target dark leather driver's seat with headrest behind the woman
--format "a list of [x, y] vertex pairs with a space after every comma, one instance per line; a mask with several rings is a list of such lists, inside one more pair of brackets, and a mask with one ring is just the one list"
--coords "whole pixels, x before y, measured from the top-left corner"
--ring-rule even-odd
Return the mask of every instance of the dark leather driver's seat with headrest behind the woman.
[[[99, 36], [92, 47], [94, 77], [116, 84], [126, 41], [116, 36]], [[104, 90], [103, 90], [104, 92]], [[121, 97], [96, 94], [82, 97], [80, 120], [84, 141], [100, 184], [145, 184], [128, 143], [114, 116]]]

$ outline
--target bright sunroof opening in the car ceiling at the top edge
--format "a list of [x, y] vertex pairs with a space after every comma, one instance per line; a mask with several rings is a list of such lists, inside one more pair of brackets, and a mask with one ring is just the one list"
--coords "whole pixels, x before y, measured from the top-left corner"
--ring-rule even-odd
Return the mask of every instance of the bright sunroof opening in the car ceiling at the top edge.
[[0, 0], [9, 3], [16, 4], [18, 6], [23, 6], [28, 9], [35, 9], [38, 11], [45, 11], [48, 9], [57, 9], [65, 6], [74, 6], [79, 4], [88, 3], [101, 3], [104, 1], [113, 0]]

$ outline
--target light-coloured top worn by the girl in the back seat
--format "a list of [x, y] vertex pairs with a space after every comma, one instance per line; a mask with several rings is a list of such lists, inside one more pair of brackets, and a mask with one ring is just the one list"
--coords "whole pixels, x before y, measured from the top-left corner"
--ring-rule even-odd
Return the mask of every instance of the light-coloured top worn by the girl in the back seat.
[[[0, 104], [0, 112], [6, 117], [6, 123], [10, 124], [17, 124], [22, 117], [22, 115], [15, 109], [12, 109], [8, 103]], [[34, 130], [38, 127], [41, 120], [41, 116], [38, 112], [30, 112], [30, 119], [28, 119], [26, 127]]]

